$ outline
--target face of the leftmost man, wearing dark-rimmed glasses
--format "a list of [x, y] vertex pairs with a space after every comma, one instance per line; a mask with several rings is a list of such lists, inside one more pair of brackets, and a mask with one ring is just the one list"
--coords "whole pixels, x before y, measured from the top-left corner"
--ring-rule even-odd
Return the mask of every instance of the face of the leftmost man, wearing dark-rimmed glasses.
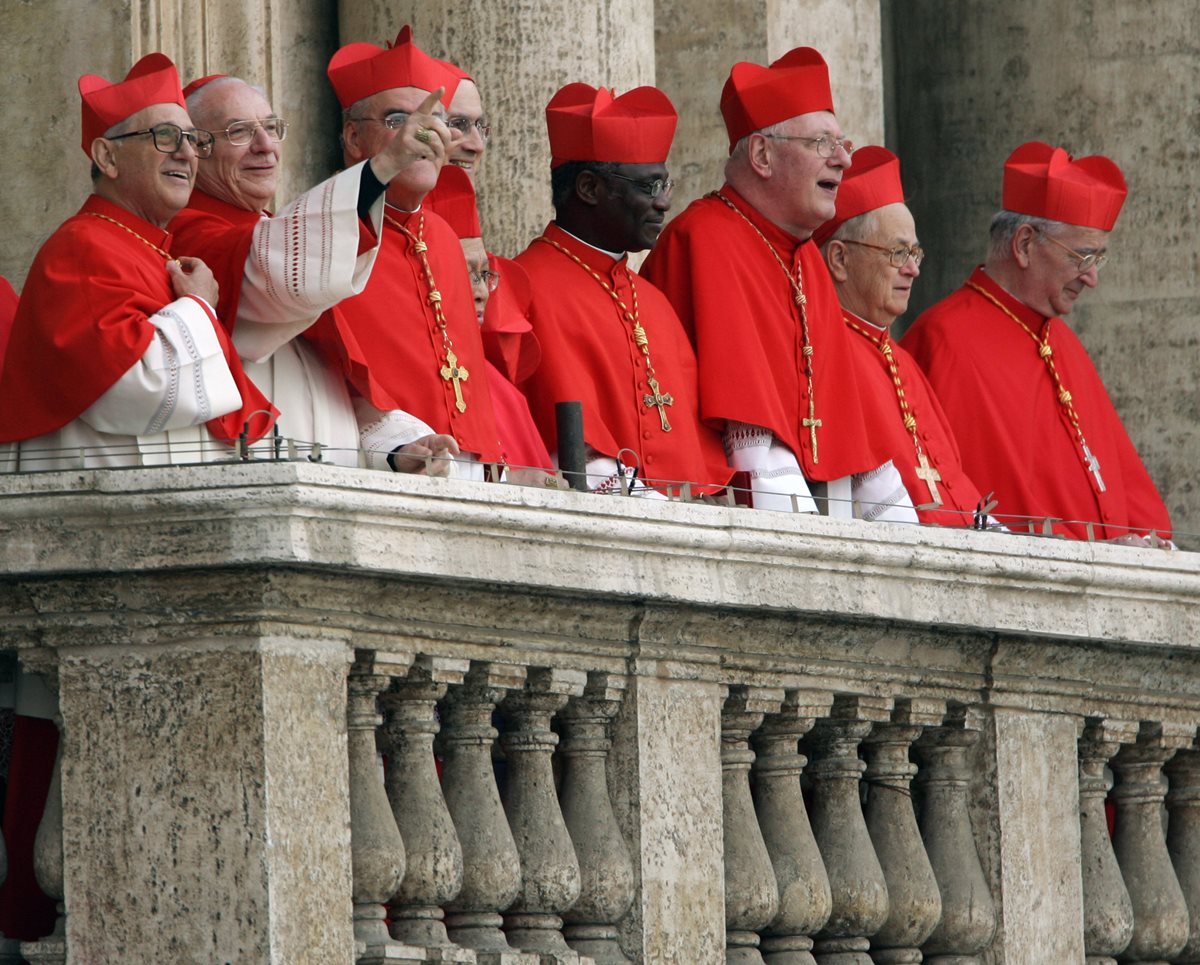
[[[122, 127], [143, 131], [163, 122], [185, 131], [193, 127], [187, 112], [179, 104], [151, 104], [130, 116]], [[106, 172], [104, 176], [110, 178], [112, 196], [122, 208], [164, 228], [192, 196], [198, 160], [192, 143], [182, 138], [170, 154], [157, 150], [149, 134], [109, 143], [115, 173]]]

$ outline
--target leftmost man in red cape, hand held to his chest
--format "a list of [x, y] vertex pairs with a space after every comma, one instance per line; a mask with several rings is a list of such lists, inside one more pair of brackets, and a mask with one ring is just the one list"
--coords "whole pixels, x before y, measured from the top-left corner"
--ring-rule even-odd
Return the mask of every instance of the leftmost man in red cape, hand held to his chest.
[[110, 83], [86, 74], [83, 150], [92, 194], [38, 251], [0, 371], [7, 469], [227, 458], [274, 421], [217, 322], [217, 284], [174, 257], [167, 224], [187, 204], [212, 136], [196, 130], [163, 54]]

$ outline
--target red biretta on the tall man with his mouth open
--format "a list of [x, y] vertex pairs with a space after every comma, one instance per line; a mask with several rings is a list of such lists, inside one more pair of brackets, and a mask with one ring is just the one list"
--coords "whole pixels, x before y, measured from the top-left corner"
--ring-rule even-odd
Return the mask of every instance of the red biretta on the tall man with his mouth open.
[[746, 134], [814, 110], [833, 113], [829, 67], [811, 47], [788, 50], [769, 67], [734, 64], [721, 90], [730, 151]]

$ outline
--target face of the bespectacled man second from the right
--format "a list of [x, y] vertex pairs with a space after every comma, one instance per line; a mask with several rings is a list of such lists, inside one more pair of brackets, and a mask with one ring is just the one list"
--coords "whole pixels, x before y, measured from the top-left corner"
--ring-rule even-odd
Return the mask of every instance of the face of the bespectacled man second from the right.
[[886, 204], [869, 216], [872, 227], [863, 244], [846, 245], [846, 281], [838, 284], [838, 300], [859, 318], [887, 328], [908, 310], [908, 295], [920, 269], [912, 258], [896, 268], [888, 252], [866, 245], [912, 247], [917, 244], [917, 227], [904, 204]]

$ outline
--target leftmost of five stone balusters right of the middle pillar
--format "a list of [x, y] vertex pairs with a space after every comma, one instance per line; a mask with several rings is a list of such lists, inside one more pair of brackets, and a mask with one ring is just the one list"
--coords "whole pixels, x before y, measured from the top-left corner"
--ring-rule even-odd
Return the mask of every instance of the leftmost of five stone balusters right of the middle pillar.
[[758, 929], [779, 913], [779, 887], [750, 797], [750, 735], [784, 700], [781, 689], [731, 687], [721, 709], [725, 822], [725, 961], [762, 965]]

